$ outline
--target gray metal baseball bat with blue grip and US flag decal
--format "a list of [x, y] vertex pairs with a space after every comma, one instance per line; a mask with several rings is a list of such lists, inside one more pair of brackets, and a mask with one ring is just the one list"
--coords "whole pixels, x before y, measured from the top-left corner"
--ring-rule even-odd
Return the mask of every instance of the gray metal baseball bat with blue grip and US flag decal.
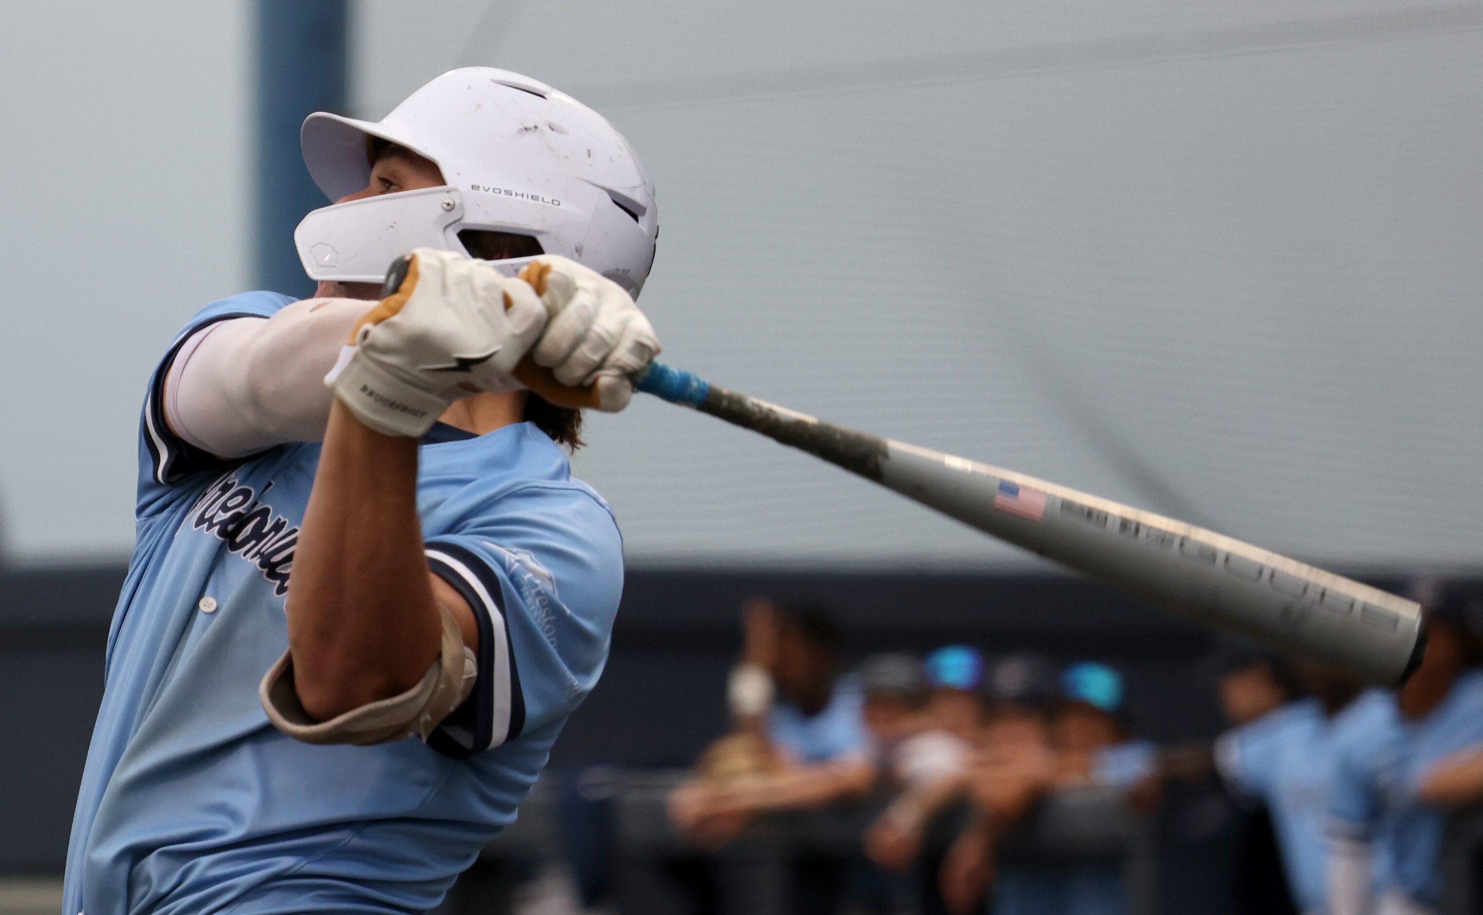
[[759, 432], [1172, 614], [1398, 684], [1421, 607], [1194, 525], [951, 454], [822, 423], [654, 363], [638, 390]]

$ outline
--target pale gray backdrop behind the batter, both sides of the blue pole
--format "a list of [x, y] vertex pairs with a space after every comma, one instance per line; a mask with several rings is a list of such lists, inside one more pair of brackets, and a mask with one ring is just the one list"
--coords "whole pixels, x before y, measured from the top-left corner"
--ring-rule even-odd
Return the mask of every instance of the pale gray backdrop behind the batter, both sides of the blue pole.
[[[21, 559], [128, 550], [148, 368], [246, 277], [246, 6], [156, 7], [0, 37], [33, 125], [0, 144]], [[629, 135], [676, 365], [1299, 556], [1483, 565], [1483, 4], [436, 0], [353, 30], [354, 114], [491, 64]], [[633, 562], [1032, 562], [706, 417], [590, 432]]]

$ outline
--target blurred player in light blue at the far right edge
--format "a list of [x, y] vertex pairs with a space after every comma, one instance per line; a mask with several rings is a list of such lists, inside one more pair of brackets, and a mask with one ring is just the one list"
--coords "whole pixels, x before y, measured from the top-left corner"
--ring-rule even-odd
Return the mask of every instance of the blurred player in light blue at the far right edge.
[[1446, 816], [1471, 799], [1456, 759], [1483, 746], [1483, 670], [1467, 610], [1456, 592], [1428, 608], [1421, 667], [1338, 737], [1332, 915], [1439, 911]]

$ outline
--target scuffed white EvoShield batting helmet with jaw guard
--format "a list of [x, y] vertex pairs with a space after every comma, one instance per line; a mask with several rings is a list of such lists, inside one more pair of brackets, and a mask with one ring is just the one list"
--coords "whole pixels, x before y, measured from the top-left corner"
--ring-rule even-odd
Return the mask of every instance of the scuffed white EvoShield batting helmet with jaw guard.
[[[412, 248], [470, 254], [467, 230], [531, 236], [638, 297], [654, 264], [654, 182], [601, 114], [509, 70], [464, 67], [432, 80], [380, 122], [323, 111], [304, 120], [304, 163], [331, 200], [371, 179], [377, 136], [435, 162], [443, 187], [335, 203], [294, 231], [314, 280], [381, 282]], [[495, 261], [518, 270], [529, 258]]]

